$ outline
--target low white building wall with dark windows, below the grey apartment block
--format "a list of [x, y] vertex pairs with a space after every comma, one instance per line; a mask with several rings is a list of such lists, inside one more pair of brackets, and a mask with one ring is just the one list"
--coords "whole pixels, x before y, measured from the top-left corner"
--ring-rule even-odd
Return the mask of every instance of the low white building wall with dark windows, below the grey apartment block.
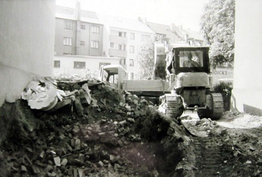
[[[71, 77], [73, 74], [80, 76], [86, 73], [94, 74], [94, 78], [98, 78], [99, 63], [110, 63], [111, 65], [119, 64], [118, 57], [91, 57], [91, 56], [55, 56], [54, 60], [60, 61], [60, 68], [54, 68], [54, 75]], [[85, 62], [86, 69], [75, 69], [74, 61]]]

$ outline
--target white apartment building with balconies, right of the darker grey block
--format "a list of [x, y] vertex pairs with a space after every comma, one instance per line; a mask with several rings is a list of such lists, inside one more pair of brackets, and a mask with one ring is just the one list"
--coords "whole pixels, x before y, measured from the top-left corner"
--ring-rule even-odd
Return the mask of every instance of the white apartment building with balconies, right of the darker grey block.
[[104, 24], [104, 51], [106, 56], [121, 58], [120, 64], [134, 78], [140, 47], [155, 38], [155, 33], [138, 19], [98, 14]]

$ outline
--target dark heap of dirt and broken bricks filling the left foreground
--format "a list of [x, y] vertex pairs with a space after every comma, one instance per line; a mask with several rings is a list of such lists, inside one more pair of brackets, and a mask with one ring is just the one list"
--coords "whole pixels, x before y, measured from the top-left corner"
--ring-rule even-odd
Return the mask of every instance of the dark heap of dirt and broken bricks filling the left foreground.
[[[60, 82], [58, 87], [74, 91], [88, 82], [93, 81]], [[194, 164], [187, 157], [192, 141], [176, 121], [150, 102], [103, 82], [89, 89], [91, 105], [81, 104], [76, 95], [72, 105], [54, 112], [31, 110], [24, 100], [5, 104], [1, 119], [9, 131], [0, 147], [0, 176], [191, 173]]]

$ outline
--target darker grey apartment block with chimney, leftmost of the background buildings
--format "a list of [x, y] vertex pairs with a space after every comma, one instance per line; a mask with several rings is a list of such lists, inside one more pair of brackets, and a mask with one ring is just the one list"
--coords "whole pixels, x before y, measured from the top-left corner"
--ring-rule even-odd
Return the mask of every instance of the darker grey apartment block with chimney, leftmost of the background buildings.
[[103, 56], [103, 24], [95, 12], [56, 7], [55, 55]]

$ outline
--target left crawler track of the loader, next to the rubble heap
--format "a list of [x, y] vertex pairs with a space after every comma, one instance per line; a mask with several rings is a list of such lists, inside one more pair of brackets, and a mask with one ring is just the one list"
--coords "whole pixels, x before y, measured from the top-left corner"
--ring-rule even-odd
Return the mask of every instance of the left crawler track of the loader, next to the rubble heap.
[[180, 117], [183, 114], [182, 100], [174, 94], [162, 96], [162, 104], [159, 110], [171, 118]]

